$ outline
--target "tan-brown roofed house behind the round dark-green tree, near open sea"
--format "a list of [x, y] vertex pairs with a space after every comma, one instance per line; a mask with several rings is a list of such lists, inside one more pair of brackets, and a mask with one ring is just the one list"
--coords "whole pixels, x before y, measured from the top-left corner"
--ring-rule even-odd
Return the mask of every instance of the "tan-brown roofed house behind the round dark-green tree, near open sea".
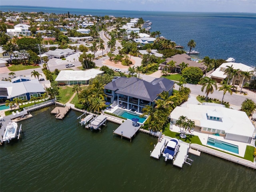
[[162, 62], [159, 64], [160, 70], [163, 70], [164, 67], [167, 65], [168, 62], [174, 61], [175, 63], [175, 69], [174, 72], [180, 73], [180, 64], [184, 62], [185, 64], [188, 64], [188, 67], [199, 67], [202, 72], [205, 72], [206, 66], [204, 64], [198, 63], [197, 61], [192, 60], [190, 56], [188, 56], [186, 53], [183, 54], [176, 54], [170, 58], [166, 58], [165, 62]]

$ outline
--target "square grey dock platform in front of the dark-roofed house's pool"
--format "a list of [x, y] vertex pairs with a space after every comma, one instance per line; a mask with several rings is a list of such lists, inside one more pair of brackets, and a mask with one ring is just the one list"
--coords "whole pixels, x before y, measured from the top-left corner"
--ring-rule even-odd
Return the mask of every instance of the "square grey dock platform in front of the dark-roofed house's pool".
[[134, 126], [131, 120], [125, 120], [116, 130], [113, 131], [114, 134], [120, 135], [121, 138], [125, 137], [132, 141], [132, 137], [136, 136], [136, 132], [140, 129], [141, 124]]

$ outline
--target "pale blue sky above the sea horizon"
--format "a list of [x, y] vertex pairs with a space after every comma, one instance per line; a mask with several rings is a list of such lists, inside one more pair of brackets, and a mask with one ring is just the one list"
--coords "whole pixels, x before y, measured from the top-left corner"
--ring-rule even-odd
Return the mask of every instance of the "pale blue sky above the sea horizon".
[[0, 5], [180, 12], [256, 12], [256, 0], [0, 0]]

